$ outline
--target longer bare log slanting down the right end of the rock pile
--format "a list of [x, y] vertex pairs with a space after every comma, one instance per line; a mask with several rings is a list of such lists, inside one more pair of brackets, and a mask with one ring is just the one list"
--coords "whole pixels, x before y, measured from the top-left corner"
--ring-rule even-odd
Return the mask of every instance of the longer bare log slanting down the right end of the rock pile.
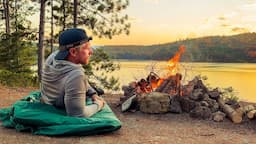
[[219, 98], [218, 103], [221, 109], [226, 113], [226, 115], [232, 120], [233, 123], [241, 123], [242, 116], [236, 112], [231, 106], [225, 104], [225, 102]]

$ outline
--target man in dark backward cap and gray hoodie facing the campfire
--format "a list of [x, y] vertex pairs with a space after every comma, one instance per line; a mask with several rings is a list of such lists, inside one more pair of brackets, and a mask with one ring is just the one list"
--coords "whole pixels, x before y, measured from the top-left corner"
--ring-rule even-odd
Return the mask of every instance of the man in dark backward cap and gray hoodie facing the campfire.
[[[42, 102], [65, 108], [68, 116], [90, 117], [100, 111], [104, 101], [89, 85], [81, 64], [88, 64], [93, 51], [91, 37], [83, 29], [73, 28], [59, 36], [59, 50], [46, 60], [42, 73]], [[93, 104], [86, 105], [90, 95]]]

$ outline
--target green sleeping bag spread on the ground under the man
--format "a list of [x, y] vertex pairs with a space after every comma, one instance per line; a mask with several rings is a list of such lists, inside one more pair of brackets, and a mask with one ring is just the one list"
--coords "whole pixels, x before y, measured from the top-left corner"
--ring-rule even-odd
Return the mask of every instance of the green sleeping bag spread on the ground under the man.
[[77, 118], [66, 116], [64, 109], [40, 103], [39, 98], [40, 92], [32, 92], [11, 107], [0, 109], [2, 125], [51, 136], [101, 134], [121, 128], [121, 122], [107, 104], [90, 118]]

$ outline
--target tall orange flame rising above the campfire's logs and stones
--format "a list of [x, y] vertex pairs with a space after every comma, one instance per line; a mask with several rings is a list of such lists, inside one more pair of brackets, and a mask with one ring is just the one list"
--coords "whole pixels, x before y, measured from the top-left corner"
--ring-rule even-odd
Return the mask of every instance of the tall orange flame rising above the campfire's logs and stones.
[[185, 52], [185, 46], [181, 45], [179, 47], [179, 51], [175, 53], [175, 55], [168, 60], [167, 68], [169, 70], [168, 76], [175, 74], [177, 69], [177, 64], [180, 61], [180, 56]]

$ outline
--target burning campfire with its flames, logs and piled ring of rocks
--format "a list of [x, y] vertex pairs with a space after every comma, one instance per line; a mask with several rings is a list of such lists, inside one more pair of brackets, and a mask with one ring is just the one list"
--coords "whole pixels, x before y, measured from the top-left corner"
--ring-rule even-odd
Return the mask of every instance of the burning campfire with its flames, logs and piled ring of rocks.
[[167, 62], [168, 73], [160, 77], [150, 72], [146, 78], [123, 86], [124, 96], [120, 98], [122, 111], [142, 111], [144, 113], [189, 113], [191, 117], [211, 119], [217, 122], [228, 117], [234, 123], [241, 123], [243, 117], [256, 117], [253, 105], [240, 106], [222, 99], [222, 92], [207, 88], [200, 76], [195, 76], [187, 84], [182, 84], [182, 74], [178, 64], [185, 46]]

